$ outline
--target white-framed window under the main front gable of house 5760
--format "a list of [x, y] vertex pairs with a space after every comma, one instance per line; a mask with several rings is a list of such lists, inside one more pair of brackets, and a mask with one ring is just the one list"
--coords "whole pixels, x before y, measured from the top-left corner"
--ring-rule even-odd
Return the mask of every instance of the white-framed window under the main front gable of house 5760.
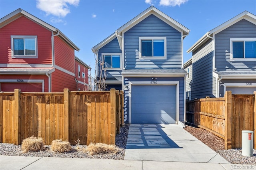
[[166, 37], [139, 37], [140, 59], [166, 59]]

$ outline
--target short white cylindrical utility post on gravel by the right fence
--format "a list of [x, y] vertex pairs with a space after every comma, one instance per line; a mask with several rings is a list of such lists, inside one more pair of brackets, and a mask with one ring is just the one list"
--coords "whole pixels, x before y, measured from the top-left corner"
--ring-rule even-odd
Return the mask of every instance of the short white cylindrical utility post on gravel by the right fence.
[[253, 156], [253, 131], [242, 130], [242, 155]]

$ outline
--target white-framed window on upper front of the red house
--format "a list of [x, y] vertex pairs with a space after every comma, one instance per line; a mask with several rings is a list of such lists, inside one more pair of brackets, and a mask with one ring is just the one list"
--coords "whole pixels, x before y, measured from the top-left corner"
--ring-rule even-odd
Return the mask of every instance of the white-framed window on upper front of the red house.
[[37, 36], [11, 36], [13, 58], [38, 58]]

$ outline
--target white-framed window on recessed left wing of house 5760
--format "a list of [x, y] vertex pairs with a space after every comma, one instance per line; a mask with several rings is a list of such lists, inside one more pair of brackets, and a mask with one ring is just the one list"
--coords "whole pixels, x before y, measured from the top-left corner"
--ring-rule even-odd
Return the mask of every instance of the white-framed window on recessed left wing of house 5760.
[[102, 53], [102, 61], [104, 67], [108, 69], [122, 69], [122, 54], [121, 53]]

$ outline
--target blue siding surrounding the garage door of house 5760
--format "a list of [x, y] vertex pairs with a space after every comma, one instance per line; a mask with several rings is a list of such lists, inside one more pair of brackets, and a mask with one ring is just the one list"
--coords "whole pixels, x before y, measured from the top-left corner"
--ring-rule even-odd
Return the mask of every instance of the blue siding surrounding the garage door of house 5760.
[[[151, 77], [124, 77], [124, 86], [129, 85], [129, 81], [151, 81]], [[184, 121], [184, 77], [157, 77], [157, 81], [179, 81], [179, 104], [180, 121]], [[128, 123], [129, 119], [129, 94], [124, 91], [124, 121]]]

